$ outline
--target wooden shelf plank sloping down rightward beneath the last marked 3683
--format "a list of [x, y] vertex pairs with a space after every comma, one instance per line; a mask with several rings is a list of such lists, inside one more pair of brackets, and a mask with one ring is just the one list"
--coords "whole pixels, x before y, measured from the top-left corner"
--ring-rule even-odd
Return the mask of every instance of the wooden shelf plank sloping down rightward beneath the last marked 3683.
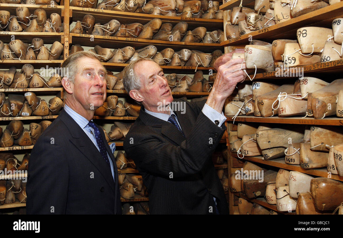
[[[237, 154], [231, 153], [231, 156], [238, 158]], [[293, 165], [293, 164], [286, 164], [285, 158], [279, 158], [274, 160], [262, 160], [262, 156], [244, 156], [244, 160], [248, 160], [251, 162], [257, 162], [260, 164], [270, 165], [273, 167], [283, 168], [285, 170], [290, 171], [298, 171], [304, 174], [315, 175], [319, 177], [328, 177], [328, 171], [326, 168], [318, 168], [315, 170], [304, 170], [300, 167], [300, 165]], [[331, 179], [343, 181], [343, 177], [335, 174], [331, 174]]]

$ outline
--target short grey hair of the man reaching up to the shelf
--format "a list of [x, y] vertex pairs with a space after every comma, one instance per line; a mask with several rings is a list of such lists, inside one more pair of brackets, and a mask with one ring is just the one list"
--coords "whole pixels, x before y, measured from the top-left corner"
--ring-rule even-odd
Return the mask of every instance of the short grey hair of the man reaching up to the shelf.
[[[128, 66], [126, 66], [123, 70], [123, 84], [124, 84], [124, 88], [127, 91], [127, 93], [129, 93], [131, 90], [135, 89], [135, 90], [139, 90], [141, 89], [142, 85], [141, 82], [139, 80], [139, 78], [137, 77], [137, 75], [135, 74], [135, 68], [137, 67], [137, 65], [145, 60], [148, 61], [153, 61], [151, 59], [144, 59], [144, 58], [140, 58], [138, 60], [135, 60], [133, 62], [131, 62]], [[155, 62], [155, 61], [153, 61]], [[144, 69], [142, 69], [144, 70]]]

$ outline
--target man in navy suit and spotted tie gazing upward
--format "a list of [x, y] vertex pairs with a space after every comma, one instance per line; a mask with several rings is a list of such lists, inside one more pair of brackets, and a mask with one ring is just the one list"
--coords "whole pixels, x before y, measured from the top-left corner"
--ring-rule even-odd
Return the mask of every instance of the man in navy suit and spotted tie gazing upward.
[[118, 172], [104, 131], [93, 123], [106, 99], [106, 69], [89, 51], [63, 63], [65, 106], [35, 144], [27, 214], [121, 214]]

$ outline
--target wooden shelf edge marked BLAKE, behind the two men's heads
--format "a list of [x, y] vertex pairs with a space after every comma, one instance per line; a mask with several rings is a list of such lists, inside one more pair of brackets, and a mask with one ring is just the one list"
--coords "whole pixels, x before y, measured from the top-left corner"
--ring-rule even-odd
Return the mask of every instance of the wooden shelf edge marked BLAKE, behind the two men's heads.
[[[115, 71], [119, 72], [124, 69], [125, 66], [129, 64], [120, 64], [120, 63], [108, 63], [108, 62], [103, 62], [102, 63], [107, 70], [109, 71]], [[195, 70], [197, 71], [202, 70], [204, 71], [204, 74], [207, 74], [209, 70], [214, 71], [214, 67], [200, 67], [198, 68], [196, 66], [168, 66], [168, 65], [160, 65], [161, 68], [163, 68], [163, 72], [170, 74], [170, 73], [184, 73], [184, 74], [194, 74]]]

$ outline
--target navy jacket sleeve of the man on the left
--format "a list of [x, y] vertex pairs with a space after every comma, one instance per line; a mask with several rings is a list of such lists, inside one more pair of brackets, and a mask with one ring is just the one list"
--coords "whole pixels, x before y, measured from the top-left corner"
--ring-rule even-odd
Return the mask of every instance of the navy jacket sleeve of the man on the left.
[[68, 147], [50, 136], [38, 139], [28, 164], [27, 214], [65, 214], [68, 197]]

